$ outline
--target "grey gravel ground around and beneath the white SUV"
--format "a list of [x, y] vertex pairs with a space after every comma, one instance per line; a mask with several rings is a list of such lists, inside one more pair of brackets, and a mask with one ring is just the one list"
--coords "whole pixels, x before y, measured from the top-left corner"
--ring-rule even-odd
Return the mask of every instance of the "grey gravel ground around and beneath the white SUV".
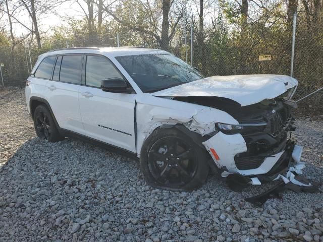
[[[254, 207], [210, 176], [190, 193], [146, 185], [135, 160], [35, 138], [24, 90], [0, 90], [0, 241], [323, 241], [323, 193]], [[306, 177], [323, 181], [323, 122], [297, 119]]]

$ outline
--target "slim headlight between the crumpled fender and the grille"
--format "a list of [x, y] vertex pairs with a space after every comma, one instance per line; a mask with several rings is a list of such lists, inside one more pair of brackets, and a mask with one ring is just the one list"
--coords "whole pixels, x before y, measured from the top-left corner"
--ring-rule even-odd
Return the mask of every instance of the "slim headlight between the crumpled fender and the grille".
[[264, 130], [267, 123], [230, 125], [217, 123], [216, 128], [226, 135], [252, 134]]

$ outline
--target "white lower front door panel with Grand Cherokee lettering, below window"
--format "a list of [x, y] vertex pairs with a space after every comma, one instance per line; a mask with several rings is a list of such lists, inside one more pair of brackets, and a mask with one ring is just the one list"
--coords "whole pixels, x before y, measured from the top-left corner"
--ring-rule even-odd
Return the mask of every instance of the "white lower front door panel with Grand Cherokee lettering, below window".
[[136, 94], [81, 86], [79, 102], [85, 135], [135, 152], [135, 98]]

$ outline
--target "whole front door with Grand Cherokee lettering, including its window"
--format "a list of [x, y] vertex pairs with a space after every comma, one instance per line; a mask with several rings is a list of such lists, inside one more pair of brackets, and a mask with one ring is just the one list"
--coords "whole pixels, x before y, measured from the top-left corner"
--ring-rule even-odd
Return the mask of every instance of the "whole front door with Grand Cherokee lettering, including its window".
[[100, 89], [103, 79], [124, 78], [103, 55], [87, 54], [84, 70], [85, 86], [79, 89], [79, 102], [86, 136], [135, 152], [136, 94], [103, 92]]

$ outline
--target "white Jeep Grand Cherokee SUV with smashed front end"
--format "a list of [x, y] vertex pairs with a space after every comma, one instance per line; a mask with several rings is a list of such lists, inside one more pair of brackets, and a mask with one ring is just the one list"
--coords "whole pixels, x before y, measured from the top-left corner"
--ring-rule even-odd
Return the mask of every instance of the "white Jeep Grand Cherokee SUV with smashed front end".
[[261, 184], [299, 162], [294, 78], [213, 76], [169, 52], [82, 47], [39, 56], [26, 102], [39, 137], [77, 136], [140, 158], [149, 184], [191, 190], [209, 168]]

